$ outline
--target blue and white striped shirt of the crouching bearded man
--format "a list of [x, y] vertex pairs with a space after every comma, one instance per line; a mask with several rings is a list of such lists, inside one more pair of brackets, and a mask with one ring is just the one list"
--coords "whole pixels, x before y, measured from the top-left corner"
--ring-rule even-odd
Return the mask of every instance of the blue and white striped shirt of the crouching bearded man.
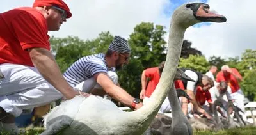
[[115, 68], [107, 67], [104, 57], [105, 54], [102, 53], [84, 56], [73, 63], [63, 75], [70, 86], [74, 87], [99, 72], [108, 74], [108, 70], [115, 71]]

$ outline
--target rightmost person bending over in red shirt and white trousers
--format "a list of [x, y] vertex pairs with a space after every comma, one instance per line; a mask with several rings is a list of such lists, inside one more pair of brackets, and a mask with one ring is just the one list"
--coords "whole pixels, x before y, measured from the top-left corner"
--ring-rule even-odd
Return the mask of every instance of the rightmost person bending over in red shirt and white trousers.
[[237, 107], [244, 111], [244, 94], [239, 86], [239, 81], [243, 77], [239, 74], [236, 68], [229, 68], [228, 65], [223, 65], [221, 71], [216, 75], [216, 82], [225, 81], [231, 88], [231, 97], [236, 102]]

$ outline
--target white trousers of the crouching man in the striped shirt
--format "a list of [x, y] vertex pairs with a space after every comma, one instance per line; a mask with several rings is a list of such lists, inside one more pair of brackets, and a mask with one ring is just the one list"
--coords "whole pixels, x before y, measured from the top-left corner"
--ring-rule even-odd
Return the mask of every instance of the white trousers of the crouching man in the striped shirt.
[[[108, 71], [109, 78], [113, 81], [114, 84], [118, 83], [118, 75], [113, 71]], [[83, 81], [82, 83], [77, 84], [75, 86], [77, 90], [90, 93], [90, 91], [93, 88], [97, 88], [102, 90], [103, 88], [97, 83], [97, 81], [94, 79], [94, 77], [87, 79], [86, 81]]]

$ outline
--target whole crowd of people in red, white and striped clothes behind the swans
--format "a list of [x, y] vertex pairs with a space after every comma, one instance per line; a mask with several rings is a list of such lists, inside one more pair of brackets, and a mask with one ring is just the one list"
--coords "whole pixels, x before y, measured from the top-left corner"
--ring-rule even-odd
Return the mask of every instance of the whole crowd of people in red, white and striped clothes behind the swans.
[[[111, 97], [131, 109], [147, 104], [154, 92], [164, 61], [158, 67], [141, 74], [140, 98], [134, 98], [118, 84], [116, 70], [127, 64], [131, 48], [124, 38], [115, 36], [106, 53], [84, 56], [74, 62], [64, 74], [51, 54], [48, 31], [58, 31], [72, 13], [61, 0], [35, 0], [33, 7], [15, 8], [0, 13], [0, 129], [19, 132], [15, 117], [58, 99], [72, 99], [76, 95]], [[194, 81], [177, 80], [175, 88], [186, 90], [191, 100], [181, 98], [184, 114], [202, 114], [211, 119], [206, 109], [218, 97], [237, 102], [244, 111], [243, 91], [238, 82], [243, 78], [235, 68], [212, 66], [202, 74], [181, 68]], [[216, 81], [216, 82], [215, 82]], [[230, 88], [230, 91], [228, 91]], [[107, 95], [107, 96], [106, 96]], [[143, 100], [143, 102], [141, 102]], [[205, 101], [209, 105], [205, 105]], [[223, 104], [228, 106], [228, 103]], [[159, 112], [170, 110], [168, 98]], [[220, 110], [221, 115], [225, 115]]]

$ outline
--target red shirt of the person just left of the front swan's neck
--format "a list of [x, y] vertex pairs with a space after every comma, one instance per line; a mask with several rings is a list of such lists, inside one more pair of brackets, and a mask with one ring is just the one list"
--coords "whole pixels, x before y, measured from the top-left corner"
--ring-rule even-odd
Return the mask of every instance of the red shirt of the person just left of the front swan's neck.
[[160, 79], [158, 67], [147, 68], [145, 70], [145, 75], [146, 75], [146, 77], [150, 78], [150, 81], [148, 82], [148, 85], [146, 88], [145, 96], [150, 97], [150, 95], [156, 89], [156, 86]]

